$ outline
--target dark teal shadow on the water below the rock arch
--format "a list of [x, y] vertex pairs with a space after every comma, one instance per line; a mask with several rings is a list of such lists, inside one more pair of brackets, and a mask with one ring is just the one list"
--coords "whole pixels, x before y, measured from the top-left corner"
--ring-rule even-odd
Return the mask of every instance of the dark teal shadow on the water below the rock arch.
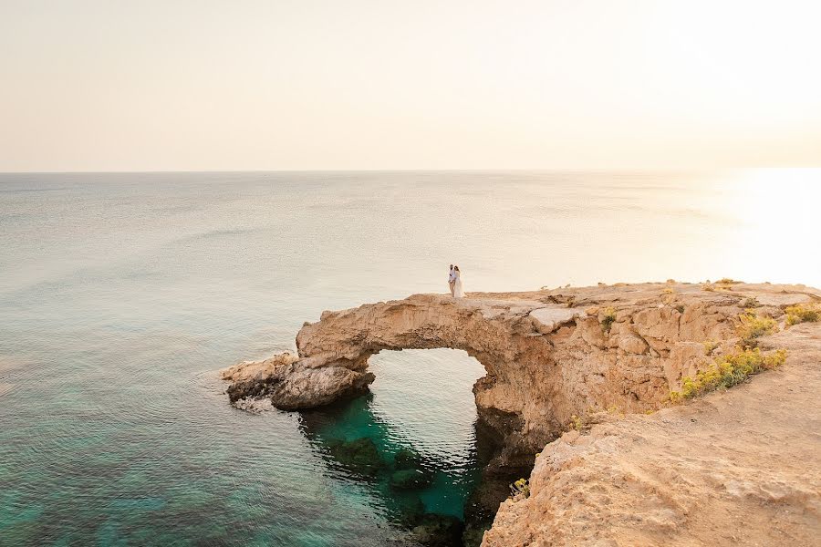
[[304, 411], [300, 429], [330, 469], [367, 485], [384, 504], [390, 522], [427, 546], [479, 545], [493, 523], [513, 475], [483, 472], [499, 447], [474, 424], [469, 462], [414, 448], [373, 411], [368, 393], [327, 408]]

